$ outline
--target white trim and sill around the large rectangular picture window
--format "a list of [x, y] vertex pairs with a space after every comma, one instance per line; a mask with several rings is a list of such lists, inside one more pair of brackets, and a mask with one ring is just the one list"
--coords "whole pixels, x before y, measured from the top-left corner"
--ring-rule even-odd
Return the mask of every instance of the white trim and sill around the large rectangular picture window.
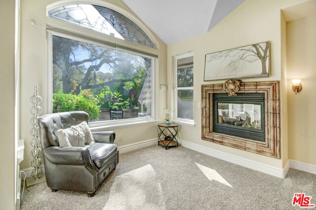
[[[111, 48], [110, 46], [103, 45], [102, 43], [98, 42], [93, 42], [91, 40], [85, 40], [81, 39], [79, 37], [73, 36], [73, 35], [68, 35], [65, 33], [60, 33], [52, 30], [47, 30], [46, 31], [46, 46], [47, 46], [47, 54], [46, 54], [46, 64], [47, 64], [47, 70], [46, 70], [46, 114], [52, 113], [53, 111], [53, 71], [52, 71], [52, 36], [57, 35], [77, 41], [82, 41], [90, 44], [95, 44], [98, 46], [104, 46], [106, 48]], [[115, 49], [112, 47], [112, 49]], [[136, 54], [136, 55], [141, 55], [137, 54], [135, 52], [119, 49], [120, 51]], [[145, 56], [145, 55], [141, 55]], [[157, 120], [157, 112], [156, 112], [156, 101], [158, 94], [156, 94], [156, 78], [157, 78], [157, 64], [158, 59], [147, 56], [149, 58], [152, 58], [152, 116], [151, 117], [144, 117], [144, 118], [134, 118], [134, 119], [124, 119], [124, 120], [108, 120], [108, 121], [95, 121], [95, 122], [89, 122], [88, 125], [91, 128], [91, 131], [101, 131], [109, 128], [121, 128], [121, 127], [129, 127], [129, 126], [136, 126], [136, 125], [141, 125], [141, 124], [152, 124], [152, 123], [157, 123], [160, 122], [161, 120]]]

